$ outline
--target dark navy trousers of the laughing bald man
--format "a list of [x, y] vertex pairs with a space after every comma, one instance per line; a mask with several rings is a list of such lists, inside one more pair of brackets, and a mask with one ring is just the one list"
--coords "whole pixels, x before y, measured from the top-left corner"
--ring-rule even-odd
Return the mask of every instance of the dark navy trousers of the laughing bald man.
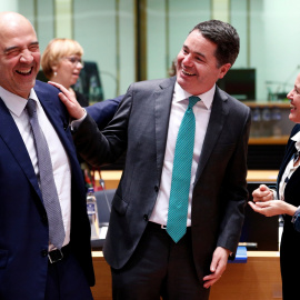
[[88, 280], [70, 251], [62, 260], [48, 263], [44, 300], [92, 300]]

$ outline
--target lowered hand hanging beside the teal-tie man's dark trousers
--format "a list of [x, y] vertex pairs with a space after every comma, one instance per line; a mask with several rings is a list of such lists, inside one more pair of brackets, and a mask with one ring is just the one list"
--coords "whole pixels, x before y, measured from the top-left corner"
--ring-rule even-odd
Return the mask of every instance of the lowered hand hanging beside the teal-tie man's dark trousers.
[[211, 274], [206, 276], [203, 278], [203, 281], [206, 281], [203, 287], [206, 289], [210, 288], [214, 282], [217, 282], [221, 278], [227, 267], [229, 253], [230, 251], [222, 247], [218, 247], [214, 250], [212, 261], [210, 264]]

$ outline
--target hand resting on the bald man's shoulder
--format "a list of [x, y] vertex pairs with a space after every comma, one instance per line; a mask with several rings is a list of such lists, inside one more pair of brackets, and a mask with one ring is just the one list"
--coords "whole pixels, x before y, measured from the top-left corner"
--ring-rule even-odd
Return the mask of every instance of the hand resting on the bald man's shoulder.
[[77, 120], [77, 119], [82, 118], [86, 114], [82, 107], [78, 103], [74, 96], [68, 89], [66, 89], [60, 83], [57, 83], [53, 81], [48, 81], [48, 83], [50, 83], [50, 84], [52, 84], [61, 90], [61, 92], [59, 93], [59, 98], [62, 101], [62, 103], [66, 106], [66, 108], [67, 108], [67, 110], [72, 119]]

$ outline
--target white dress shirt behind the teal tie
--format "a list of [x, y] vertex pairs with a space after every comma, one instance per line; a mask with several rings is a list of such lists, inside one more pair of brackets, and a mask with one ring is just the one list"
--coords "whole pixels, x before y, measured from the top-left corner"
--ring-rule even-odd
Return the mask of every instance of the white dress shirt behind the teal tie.
[[[191, 201], [192, 201], [192, 190], [193, 182], [196, 178], [196, 172], [198, 169], [199, 158], [202, 151], [202, 146], [208, 128], [208, 122], [211, 113], [212, 100], [216, 91], [216, 86], [212, 87], [209, 91], [202, 94], [198, 94], [201, 101], [197, 102], [193, 107], [193, 113], [196, 117], [196, 132], [194, 132], [194, 148], [192, 157], [192, 168], [191, 168], [191, 184], [189, 193], [189, 207], [187, 216], [187, 226], [191, 226]], [[167, 147], [164, 153], [164, 161], [162, 167], [161, 183], [160, 190], [158, 193], [158, 199], [150, 217], [150, 221], [167, 224], [168, 220], [168, 209], [169, 209], [169, 199], [171, 191], [171, 181], [172, 181], [172, 169], [173, 169], [173, 159], [174, 159], [174, 149], [176, 140], [179, 131], [179, 127], [183, 114], [189, 104], [189, 97], [192, 96], [184, 91], [177, 82], [174, 86], [172, 107], [170, 112]]]

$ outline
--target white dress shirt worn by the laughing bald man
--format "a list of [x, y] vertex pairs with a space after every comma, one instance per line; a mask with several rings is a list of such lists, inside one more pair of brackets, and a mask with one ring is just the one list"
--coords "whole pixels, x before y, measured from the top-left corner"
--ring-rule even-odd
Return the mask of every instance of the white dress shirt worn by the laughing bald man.
[[[19, 129], [21, 138], [23, 139], [24, 146], [27, 148], [28, 154], [31, 159], [34, 172], [36, 174], [38, 174], [39, 166], [38, 166], [37, 150], [34, 147], [34, 140], [33, 134], [31, 132], [29, 117], [26, 110], [28, 100], [4, 90], [2, 87], [0, 87], [0, 97], [6, 103], [7, 108], [9, 109]], [[37, 114], [39, 123], [43, 131], [50, 151], [54, 182], [57, 186], [66, 232], [63, 246], [66, 246], [70, 241], [70, 228], [71, 228], [71, 167], [67, 152], [54, 128], [48, 120], [33, 89], [31, 89], [29, 98], [37, 101]], [[52, 246], [49, 246], [49, 249], [52, 248], [53, 248]]]

